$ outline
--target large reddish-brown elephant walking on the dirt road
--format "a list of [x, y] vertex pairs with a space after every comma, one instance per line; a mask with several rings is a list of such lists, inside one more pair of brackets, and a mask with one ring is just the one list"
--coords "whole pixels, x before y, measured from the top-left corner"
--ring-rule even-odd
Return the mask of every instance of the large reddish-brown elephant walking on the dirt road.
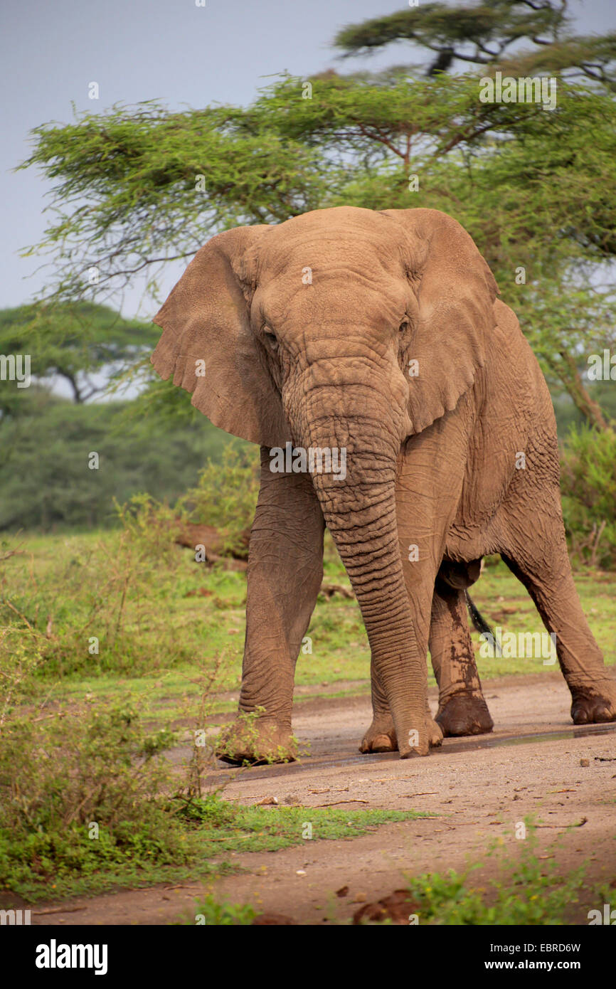
[[443, 735], [490, 730], [465, 599], [489, 554], [556, 634], [573, 722], [616, 720], [572, 580], [550, 393], [498, 294], [447, 214], [334, 207], [218, 233], [154, 316], [158, 375], [261, 451], [227, 761], [296, 756], [325, 527], [371, 651], [361, 752], [425, 756]]

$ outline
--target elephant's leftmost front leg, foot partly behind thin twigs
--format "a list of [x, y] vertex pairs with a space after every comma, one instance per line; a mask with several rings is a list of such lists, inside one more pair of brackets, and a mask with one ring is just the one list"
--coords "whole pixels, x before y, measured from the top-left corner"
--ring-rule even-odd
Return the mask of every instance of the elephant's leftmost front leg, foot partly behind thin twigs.
[[291, 729], [295, 667], [322, 581], [324, 524], [310, 479], [269, 468], [263, 448], [248, 554], [239, 709], [217, 752], [231, 764], [297, 756]]

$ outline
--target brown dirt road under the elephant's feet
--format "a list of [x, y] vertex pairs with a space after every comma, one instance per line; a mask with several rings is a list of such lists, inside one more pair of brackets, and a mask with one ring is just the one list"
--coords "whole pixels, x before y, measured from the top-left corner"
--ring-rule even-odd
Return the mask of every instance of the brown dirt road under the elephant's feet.
[[[309, 744], [309, 756], [300, 764], [240, 772], [220, 764], [213, 776], [219, 785], [226, 781], [227, 799], [252, 804], [275, 797], [280, 804], [306, 807], [307, 822], [310, 807], [326, 805], [413, 809], [429, 819], [386, 825], [353, 840], [233, 854], [246, 872], [209, 885], [49, 904], [38, 908], [33, 923], [168, 923], [194, 915], [195, 899], [210, 890], [297, 923], [320, 924], [328, 913], [345, 920], [365, 898], [379, 899], [403, 884], [405, 871], [459, 870], [484, 858], [497, 838], [516, 854], [514, 828], [527, 815], [540, 823], [540, 854], [556, 856], [563, 874], [586, 860], [593, 878], [613, 881], [616, 725], [573, 728], [569, 691], [551, 674], [486, 681], [484, 694], [495, 726], [490, 736], [446, 739], [427, 759], [402, 762], [357, 752], [370, 723], [368, 697], [309, 699], [303, 691], [294, 728], [301, 743]], [[434, 708], [433, 691], [431, 703]], [[484, 866], [484, 872], [492, 867]], [[347, 895], [336, 896], [345, 886]]]

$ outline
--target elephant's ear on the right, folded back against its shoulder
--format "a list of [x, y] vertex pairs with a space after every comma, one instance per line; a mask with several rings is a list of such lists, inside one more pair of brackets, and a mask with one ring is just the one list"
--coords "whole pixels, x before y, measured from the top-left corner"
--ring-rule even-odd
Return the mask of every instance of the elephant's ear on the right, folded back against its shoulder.
[[484, 366], [498, 286], [473, 238], [439, 210], [384, 210], [402, 227], [417, 309], [403, 354], [413, 433], [455, 408]]

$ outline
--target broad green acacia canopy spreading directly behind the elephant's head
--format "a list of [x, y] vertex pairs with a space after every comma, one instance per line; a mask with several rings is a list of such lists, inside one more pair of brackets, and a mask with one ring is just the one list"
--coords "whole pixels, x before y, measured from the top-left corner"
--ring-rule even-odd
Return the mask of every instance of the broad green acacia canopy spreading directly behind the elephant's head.
[[[529, 8], [524, 31], [521, 7]], [[541, 22], [554, 40], [537, 45], [555, 57], [558, 47], [564, 57], [561, 7], [559, 21], [550, 3], [493, 0], [481, 8], [491, 19], [482, 35], [480, 8], [468, 22], [462, 15], [449, 22], [442, 5], [423, 5], [421, 12], [393, 15], [386, 40], [399, 38], [399, 24], [420, 13], [424, 41], [432, 32], [428, 47], [436, 44], [437, 21], [438, 44], [451, 41], [455, 22], [459, 43], [476, 32], [476, 60], [485, 65], [488, 34], [494, 45], [501, 18], [499, 37], [512, 36], [515, 15], [511, 44], [536, 40]], [[452, 8], [446, 11], [449, 17]], [[371, 37], [385, 44], [374, 23]], [[419, 22], [412, 23], [416, 31]], [[345, 44], [359, 50], [352, 30], [360, 31], [346, 29]], [[368, 35], [362, 37], [366, 46]], [[609, 48], [609, 39], [603, 42]], [[493, 51], [505, 48], [498, 43]], [[572, 45], [568, 50], [571, 56]], [[279, 223], [341, 203], [443, 209], [477, 240], [552, 381], [604, 427], [580, 375], [580, 355], [614, 339], [614, 299], [603, 284], [607, 274], [597, 273], [616, 252], [616, 107], [597, 80], [566, 82], [572, 57], [564, 61], [554, 112], [539, 104], [482, 103], [476, 75], [329, 70], [310, 80], [283, 76], [246, 109], [178, 114], [148, 103], [39, 128], [24, 166], [39, 165], [56, 182], [57, 220], [39, 245], [53, 252], [54, 295], [95, 296], [142, 271], [155, 291], [157, 265], [188, 259], [225, 226]], [[606, 60], [603, 71], [608, 68]], [[94, 286], [91, 267], [99, 273]], [[157, 402], [170, 402], [170, 394], [156, 386]]]

